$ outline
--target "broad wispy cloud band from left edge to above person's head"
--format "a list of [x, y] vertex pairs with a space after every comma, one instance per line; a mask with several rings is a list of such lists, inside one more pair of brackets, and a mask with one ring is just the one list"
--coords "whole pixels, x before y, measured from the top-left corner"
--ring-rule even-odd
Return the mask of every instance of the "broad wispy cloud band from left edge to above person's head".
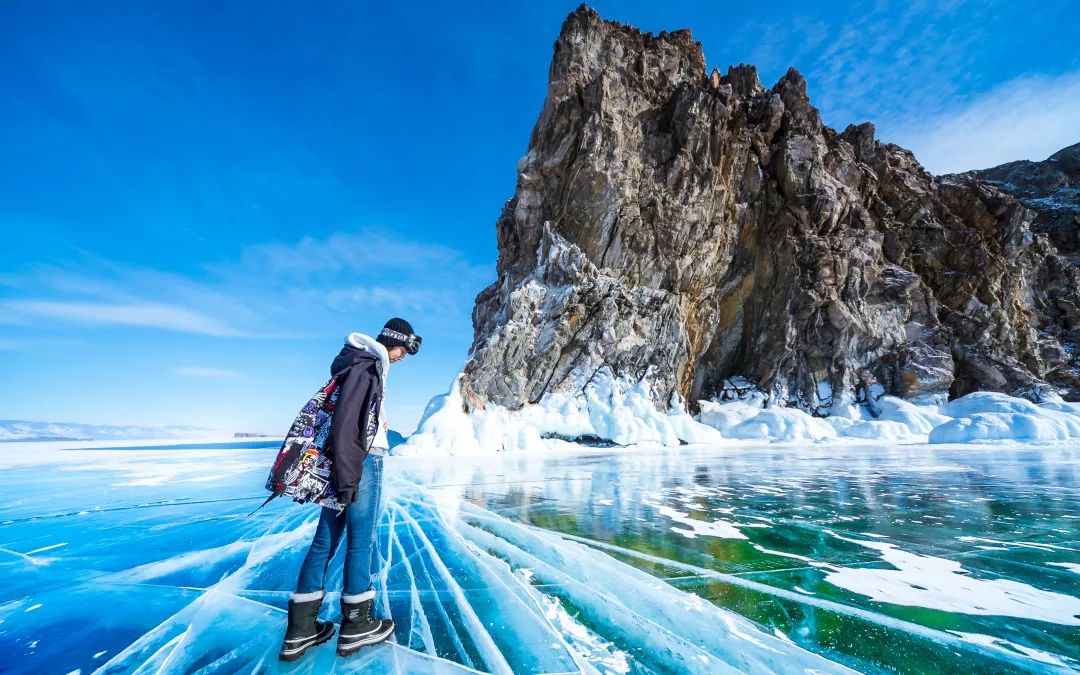
[[[410, 313], [461, 323], [494, 268], [374, 228], [243, 247], [190, 274], [80, 252], [2, 279], [0, 323], [138, 326], [203, 336], [297, 337], [334, 315]], [[22, 296], [22, 297], [19, 297]], [[42, 325], [42, 321], [50, 324]]]

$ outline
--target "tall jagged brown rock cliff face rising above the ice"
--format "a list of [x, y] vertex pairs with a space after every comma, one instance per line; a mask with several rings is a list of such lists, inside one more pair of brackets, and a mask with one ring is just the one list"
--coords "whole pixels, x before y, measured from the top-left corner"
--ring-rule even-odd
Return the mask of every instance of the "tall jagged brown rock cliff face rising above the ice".
[[826, 413], [874, 393], [1075, 391], [1080, 274], [1011, 195], [939, 179], [802, 77], [706, 73], [689, 31], [582, 6], [498, 221], [462, 392], [517, 408], [602, 369], [658, 405], [740, 376]]

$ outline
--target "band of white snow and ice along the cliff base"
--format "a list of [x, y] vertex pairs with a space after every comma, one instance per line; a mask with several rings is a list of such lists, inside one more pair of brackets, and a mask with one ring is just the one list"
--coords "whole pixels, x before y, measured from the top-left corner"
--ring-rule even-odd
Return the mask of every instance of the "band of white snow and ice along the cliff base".
[[535, 405], [509, 410], [488, 403], [464, 411], [459, 375], [435, 396], [416, 433], [395, 455], [473, 455], [501, 450], [545, 451], [575, 442], [615, 445], [739, 442], [972, 443], [1080, 440], [1080, 404], [1051, 399], [1040, 404], [994, 392], [975, 392], [939, 405], [879, 396], [869, 406], [843, 402], [828, 417], [770, 404], [760, 392], [738, 400], [700, 401], [691, 416], [677, 395], [667, 411], [653, 405], [648, 379], [615, 377], [607, 368], [575, 387], [545, 394]]

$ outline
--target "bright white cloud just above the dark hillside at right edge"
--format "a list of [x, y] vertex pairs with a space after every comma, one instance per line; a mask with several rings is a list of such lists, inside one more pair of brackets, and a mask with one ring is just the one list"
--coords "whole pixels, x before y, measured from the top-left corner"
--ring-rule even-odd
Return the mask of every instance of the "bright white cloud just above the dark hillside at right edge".
[[883, 120], [878, 135], [934, 174], [1044, 160], [1080, 141], [1080, 72], [1003, 82], [926, 119]]

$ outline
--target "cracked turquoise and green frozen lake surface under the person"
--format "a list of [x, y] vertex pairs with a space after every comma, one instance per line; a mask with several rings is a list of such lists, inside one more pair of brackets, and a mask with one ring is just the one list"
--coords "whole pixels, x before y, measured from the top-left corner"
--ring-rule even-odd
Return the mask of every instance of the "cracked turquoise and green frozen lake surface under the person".
[[[318, 516], [248, 515], [276, 444], [68, 447], [3, 447], [3, 670], [276, 672]], [[1080, 449], [392, 458], [384, 494], [396, 645], [281, 671], [1080, 669]]]

